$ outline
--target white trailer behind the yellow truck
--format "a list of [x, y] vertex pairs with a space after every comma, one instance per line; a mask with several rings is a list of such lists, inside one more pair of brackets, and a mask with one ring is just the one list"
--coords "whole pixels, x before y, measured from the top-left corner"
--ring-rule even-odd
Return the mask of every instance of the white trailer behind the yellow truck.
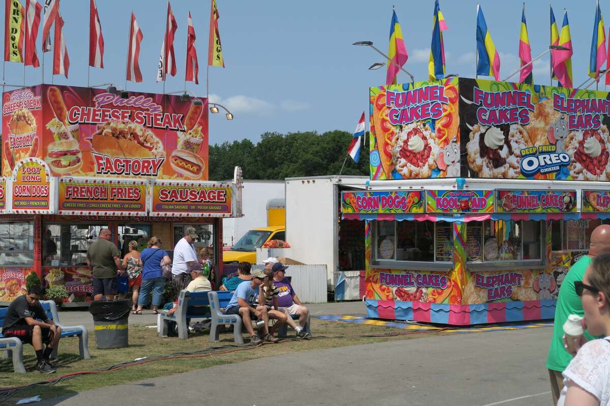
[[267, 202], [274, 198], [284, 198], [284, 181], [244, 180], [243, 217], [223, 219], [223, 245], [232, 247], [248, 230], [267, 226]]

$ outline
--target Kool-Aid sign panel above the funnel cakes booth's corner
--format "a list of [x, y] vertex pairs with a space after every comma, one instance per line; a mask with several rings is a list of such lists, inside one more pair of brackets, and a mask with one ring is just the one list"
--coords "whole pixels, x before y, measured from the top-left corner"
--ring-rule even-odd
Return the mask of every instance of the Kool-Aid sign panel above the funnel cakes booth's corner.
[[426, 191], [426, 212], [493, 212], [493, 191]]

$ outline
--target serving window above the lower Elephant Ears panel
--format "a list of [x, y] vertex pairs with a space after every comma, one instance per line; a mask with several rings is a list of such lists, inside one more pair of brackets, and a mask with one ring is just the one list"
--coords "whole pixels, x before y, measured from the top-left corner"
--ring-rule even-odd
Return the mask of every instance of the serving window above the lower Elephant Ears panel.
[[541, 230], [537, 221], [469, 222], [466, 224], [467, 261], [540, 261]]

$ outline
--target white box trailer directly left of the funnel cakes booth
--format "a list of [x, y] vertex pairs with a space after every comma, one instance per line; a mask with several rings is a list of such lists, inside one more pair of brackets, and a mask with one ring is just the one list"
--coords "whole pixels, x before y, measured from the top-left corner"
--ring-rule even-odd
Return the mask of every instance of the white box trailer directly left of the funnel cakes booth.
[[[311, 265], [326, 265], [326, 285], [334, 291], [339, 271], [341, 192], [365, 189], [368, 177], [323, 176], [286, 178], [286, 240], [290, 257]], [[245, 198], [244, 198], [244, 201]], [[364, 230], [360, 236], [364, 247]], [[364, 259], [364, 252], [362, 253]], [[355, 261], [355, 259], [354, 259]], [[364, 261], [359, 261], [364, 270]]]

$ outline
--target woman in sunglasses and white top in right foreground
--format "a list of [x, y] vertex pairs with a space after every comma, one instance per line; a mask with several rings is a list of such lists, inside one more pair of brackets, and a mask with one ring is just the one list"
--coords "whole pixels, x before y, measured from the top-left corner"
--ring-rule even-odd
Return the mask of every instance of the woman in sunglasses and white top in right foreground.
[[563, 373], [558, 406], [610, 405], [610, 254], [595, 257], [574, 287], [583, 304], [583, 327], [605, 338], [574, 340], [577, 352]]

